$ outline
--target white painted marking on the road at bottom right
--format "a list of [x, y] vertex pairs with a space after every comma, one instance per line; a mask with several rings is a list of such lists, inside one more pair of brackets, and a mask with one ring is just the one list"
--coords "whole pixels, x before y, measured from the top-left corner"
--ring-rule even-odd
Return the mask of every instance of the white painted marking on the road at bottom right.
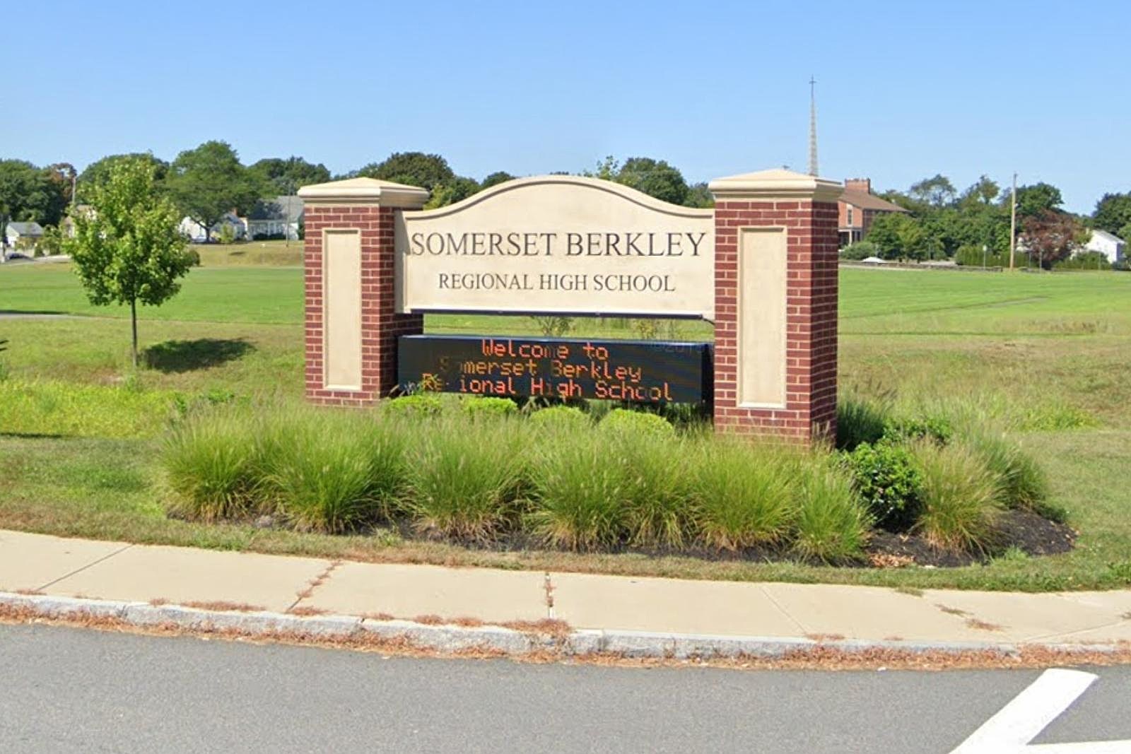
[[1131, 740], [1028, 745], [1097, 677], [1082, 670], [1045, 670], [951, 754], [1131, 754]]

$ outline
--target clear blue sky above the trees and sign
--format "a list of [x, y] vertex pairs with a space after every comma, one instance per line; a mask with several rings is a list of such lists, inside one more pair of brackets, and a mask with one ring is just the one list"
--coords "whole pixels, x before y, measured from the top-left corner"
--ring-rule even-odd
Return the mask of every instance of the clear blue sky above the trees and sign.
[[667, 159], [1131, 190], [1128, 2], [19, 2], [0, 157], [78, 167], [224, 139], [345, 172], [391, 151], [482, 179]]

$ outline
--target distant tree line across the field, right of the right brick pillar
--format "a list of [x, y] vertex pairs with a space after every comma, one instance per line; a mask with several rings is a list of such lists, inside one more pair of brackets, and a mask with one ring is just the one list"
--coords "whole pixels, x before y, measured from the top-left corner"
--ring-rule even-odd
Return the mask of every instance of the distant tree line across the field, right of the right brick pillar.
[[[936, 174], [907, 191], [879, 196], [907, 213], [875, 217], [864, 240], [844, 251], [846, 258], [874, 254], [892, 260], [1009, 265], [1011, 189], [983, 175], [958, 191], [950, 179]], [[1090, 216], [1067, 211], [1060, 189], [1045, 182], [1018, 187], [1016, 202], [1021, 263], [1031, 259], [1047, 269], [1064, 262], [1087, 241], [1093, 228], [1124, 240], [1131, 236], [1131, 192], [1104, 194]]]

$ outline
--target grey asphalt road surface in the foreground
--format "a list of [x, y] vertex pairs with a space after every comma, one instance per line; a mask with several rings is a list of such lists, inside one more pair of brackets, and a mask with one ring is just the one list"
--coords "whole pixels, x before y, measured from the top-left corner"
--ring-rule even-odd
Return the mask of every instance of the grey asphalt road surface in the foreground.
[[[1034, 740], [1131, 738], [1131, 668]], [[950, 752], [1041, 675], [422, 660], [0, 625], [0, 752]]]

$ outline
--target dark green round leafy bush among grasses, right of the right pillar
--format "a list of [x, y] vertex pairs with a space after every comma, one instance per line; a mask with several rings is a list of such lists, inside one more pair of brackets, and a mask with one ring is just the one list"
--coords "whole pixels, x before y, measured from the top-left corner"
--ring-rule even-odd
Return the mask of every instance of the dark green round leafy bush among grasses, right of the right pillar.
[[922, 504], [923, 477], [906, 445], [861, 443], [845, 457], [856, 489], [878, 526], [905, 531]]

